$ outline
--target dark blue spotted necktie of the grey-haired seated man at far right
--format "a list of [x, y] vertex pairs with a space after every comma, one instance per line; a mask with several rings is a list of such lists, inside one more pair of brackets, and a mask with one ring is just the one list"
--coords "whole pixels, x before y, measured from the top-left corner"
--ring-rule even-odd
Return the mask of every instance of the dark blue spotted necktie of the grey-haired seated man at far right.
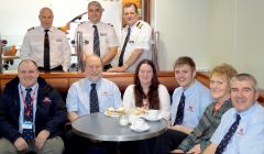
[[229, 131], [223, 136], [222, 141], [220, 142], [220, 144], [218, 145], [216, 154], [221, 154], [224, 151], [224, 148], [229, 144], [231, 138], [233, 136], [233, 134], [235, 133], [235, 131], [237, 131], [237, 129], [239, 127], [240, 119], [241, 119], [240, 114], [237, 114], [237, 119], [235, 119], [234, 123], [230, 127]]

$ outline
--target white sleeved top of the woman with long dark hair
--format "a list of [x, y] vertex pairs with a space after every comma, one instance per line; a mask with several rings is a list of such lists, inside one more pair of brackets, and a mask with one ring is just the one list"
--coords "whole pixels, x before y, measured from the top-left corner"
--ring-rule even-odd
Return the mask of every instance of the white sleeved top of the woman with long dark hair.
[[[161, 116], [162, 118], [169, 120], [170, 117], [170, 97], [167, 91], [167, 88], [163, 85], [158, 85], [158, 97], [160, 97], [160, 106], [161, 106]], [[135, 108], [135, 98], [134, 98], [134, 85], [130, 85], [123, 95], [123, 107], [125, 109], [134, 109]]]

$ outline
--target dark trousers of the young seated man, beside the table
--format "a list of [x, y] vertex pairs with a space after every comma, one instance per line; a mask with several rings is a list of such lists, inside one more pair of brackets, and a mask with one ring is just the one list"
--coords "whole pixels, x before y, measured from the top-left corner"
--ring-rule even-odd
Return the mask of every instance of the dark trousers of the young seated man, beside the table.
[[168, 129], [165, 133], [140, 142], [141, 154], [169, 154], [187, 138], [179, 131]]

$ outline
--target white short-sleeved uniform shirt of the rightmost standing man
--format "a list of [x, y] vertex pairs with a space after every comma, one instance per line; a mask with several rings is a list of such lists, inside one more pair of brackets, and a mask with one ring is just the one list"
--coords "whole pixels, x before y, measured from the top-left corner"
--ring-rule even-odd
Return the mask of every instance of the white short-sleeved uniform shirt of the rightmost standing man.
[[[124, 44], [124, 40], [128, 34], [128, 29], [129, 26], [127, 25], [125, 28], [122, 29], [122, 34], [121, 34], [121, 46], [119, 50], [118, 55], [116, 56], [116, 59], [113, 62], [113, 66], [118, 66], [119, 64], [119, 57]], [[125, 52], [123, 55], [123, 62], [128, 61], [128, 58], [131, 56], [131, 54], [134, 52], [134, 50], [143, 50], [142, 55], [135, 61], [135, 63], [128, 68], [128, 72], [134, 72], [135, 67], [140, 63], [141, 59], [143, 58], [148, 58], [151, 59], [152, 54], [151, 54], [151, 34], [152, 34], [152, 28], [144, 21], [138, 21], [133, 26], [131, 26], [131, 34], [129, 42], [125, 47]]]

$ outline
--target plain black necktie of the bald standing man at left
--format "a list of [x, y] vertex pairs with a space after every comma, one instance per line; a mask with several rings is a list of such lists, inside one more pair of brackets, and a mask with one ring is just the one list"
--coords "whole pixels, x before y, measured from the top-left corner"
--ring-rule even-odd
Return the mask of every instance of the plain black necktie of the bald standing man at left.
[[48, 32], [50, 30], [45, 30], [45, 37], [44, 37], [44, 69], [50, 70], [51, 62], [50, 62], [50, 40], [48, 40]]

